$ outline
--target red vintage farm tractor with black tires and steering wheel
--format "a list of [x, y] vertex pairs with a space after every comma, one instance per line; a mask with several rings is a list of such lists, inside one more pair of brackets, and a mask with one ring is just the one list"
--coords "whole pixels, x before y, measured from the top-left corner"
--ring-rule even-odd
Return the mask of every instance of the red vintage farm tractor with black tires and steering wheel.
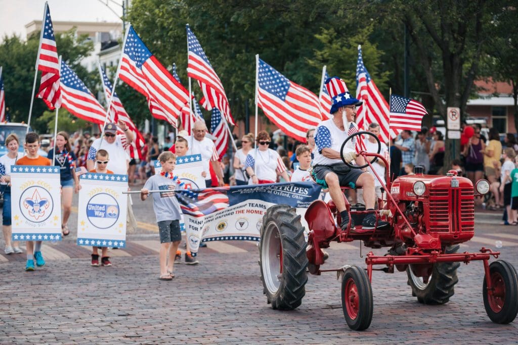
[[[355, 136], [371, 135], [358, 132]], [[378, 138], [376, 138], [378, 139]], [[378, 147], [380, 143], [378, 140]], [[361, 152], [371, 166], [376, 159], [385, 162], [379, 154]], [[367, 157], [373, 157], [369, 162]], [[373, 170], [374, 171], [374, 170]], [[380, 176], [375, 173], [380, 182]], [[498, 258], [500, 252], [481, 248], [479, 252], [458, 253], [459, 244], [469, 241], [474, 235], [474, 198], [489, 190], [489, 183], [481, 179], [473, 188], [471, 181], [457, 176], [451, 170], [446, 176], [424, 175], [416, 167], [414, 175], [400, 176], [390, 181], [386, 175], [383, 186], [387, 202], [375, 211], [352, 207], [346, 199], [350, 218], [356, 224], [369, 212], [375, 212], [378, 220], [390, 222], [390, 227], [362, 230], [356, 225], [354, 233], [350, 224], [341, 230], [340, 213], [333, 201], [325, 203], [315, 200], [306, 211], [309, 226], [306, 242], [305, 229], [295, 208], [275, 205], [268, 208], [263, 218], [260, 244], [261, 279], [267, 302], [274, 309], [297, 308], [304, 297], [307, 273], [320, 275], [322, 272], [339, 272], [342, 275], [341, 300], [343, 315], [348, 326], [355, 330], [369, 327], [372, 320], [371, 279], [374, 265], [383, 265], [378, 271], [394, 273], [406, 271], [412, 295], [423, 304], [444, 304], [454, 294], [458, 281], [457, 268], [461, 262], [481, 260], [484, 265], [483, 280], [484, 307], [489, 318], [496, 323], [510, 323], [518, 312], [518, 278], [515, 268], [508, 262], [497, 260], [489, 264], [491, 257]], [[347, 189], [347, 188], [342, 188]], [[378, 205], [382, 205], [378, 200]], [[323, 248], [329, 243], [361, 240], [366, 247], [389, 247], [387, 254], [376, 256], [369, 252], [366, 269], [358, 266], [322, 269], [326, 254]]]

